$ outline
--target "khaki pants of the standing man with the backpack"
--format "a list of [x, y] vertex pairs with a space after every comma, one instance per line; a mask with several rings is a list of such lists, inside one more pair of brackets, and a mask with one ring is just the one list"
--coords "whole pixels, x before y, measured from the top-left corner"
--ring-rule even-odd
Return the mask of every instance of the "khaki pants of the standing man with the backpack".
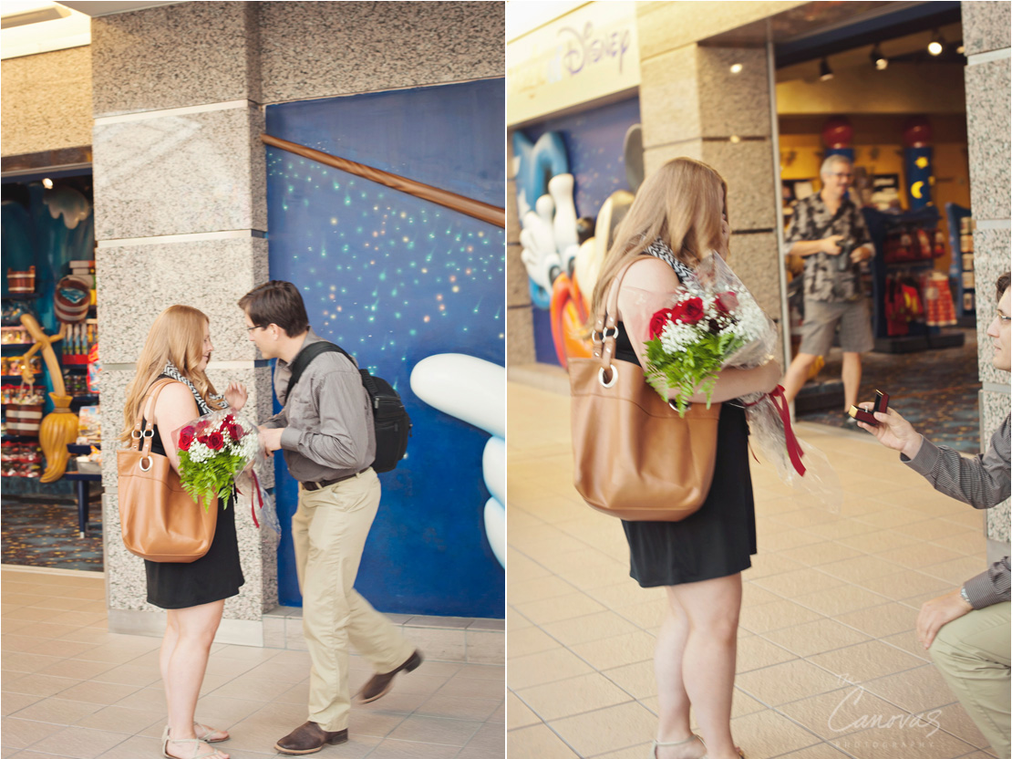
[[414, 652], [354, 589], [378, 507], [380, 479], [371, 469], [316, 491], [299, 486], [291, 533], [312, 662], [309, 719], [329, 732], [348, 727], [349, 643], [381, 673], [397, 669]]

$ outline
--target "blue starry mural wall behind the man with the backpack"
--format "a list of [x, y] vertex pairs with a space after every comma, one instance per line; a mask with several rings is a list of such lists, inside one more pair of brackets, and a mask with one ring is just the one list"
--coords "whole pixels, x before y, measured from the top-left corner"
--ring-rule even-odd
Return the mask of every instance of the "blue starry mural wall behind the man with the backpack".
[[[271, 105], [266, 116], [273, 137], [503, 205], [501, 79]], [[483, 522], [489, 435], [423, 403], [409, 376], [437, 353], [505, 364], [505, 231], [274, 148], [267, 205], [270, 277], [299, 287], [319, 335], [397, 388], [414, 424], [408, 457], [380, 476], [356, 589], [387, 612], [503, 617]], [[298, 489], [280, 455], [274, 466], [279, 597], [301, 605]]]

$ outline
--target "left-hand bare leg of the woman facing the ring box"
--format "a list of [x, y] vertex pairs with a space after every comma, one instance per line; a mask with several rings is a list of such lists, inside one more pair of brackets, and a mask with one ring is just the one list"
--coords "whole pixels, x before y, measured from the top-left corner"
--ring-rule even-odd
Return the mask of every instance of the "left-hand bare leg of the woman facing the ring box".
[[[682, 661], [685, 643], [689, 636], [689, 620], [672, 588], [667, 588], [664, 621], [657, 634], [654, 650], [654, 673], [657, 676], [658, 726], [660, 743], [688, 741], [692, 737], [689, 727], [689, 695], [685, 692]], [[695, 759], [705, 753], [698, 741], [684, 747], [660, 747], [659, 757], [685, 757]]]

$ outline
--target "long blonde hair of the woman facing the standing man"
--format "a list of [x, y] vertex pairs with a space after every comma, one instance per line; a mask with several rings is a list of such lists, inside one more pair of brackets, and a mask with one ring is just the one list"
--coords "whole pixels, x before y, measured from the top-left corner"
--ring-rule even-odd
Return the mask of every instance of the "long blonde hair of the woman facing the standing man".
[[221, 405], [210, 400], [210, 396], [217, 395], [215, 388], [197, 368], [203, 359], [203, 328], [209, 321], [203, 312], [189, 306], [170, 306], [158, 315], [137, 360], [137, 374], [126, 388], [120, 442], [130, 440], [141, 404], [169, 361], [193, 384], [209, 408]]

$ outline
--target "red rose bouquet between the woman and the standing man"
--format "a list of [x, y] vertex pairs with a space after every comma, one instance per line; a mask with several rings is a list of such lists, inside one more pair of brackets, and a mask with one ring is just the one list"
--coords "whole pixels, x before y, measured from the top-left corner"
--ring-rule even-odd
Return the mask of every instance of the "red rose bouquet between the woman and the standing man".
[[218, 496], [224, 505], [236, 480], [260, 456], [256, 425], [231, 410], [213, 411], [176, 431], [179, 479], [204, 508]]

